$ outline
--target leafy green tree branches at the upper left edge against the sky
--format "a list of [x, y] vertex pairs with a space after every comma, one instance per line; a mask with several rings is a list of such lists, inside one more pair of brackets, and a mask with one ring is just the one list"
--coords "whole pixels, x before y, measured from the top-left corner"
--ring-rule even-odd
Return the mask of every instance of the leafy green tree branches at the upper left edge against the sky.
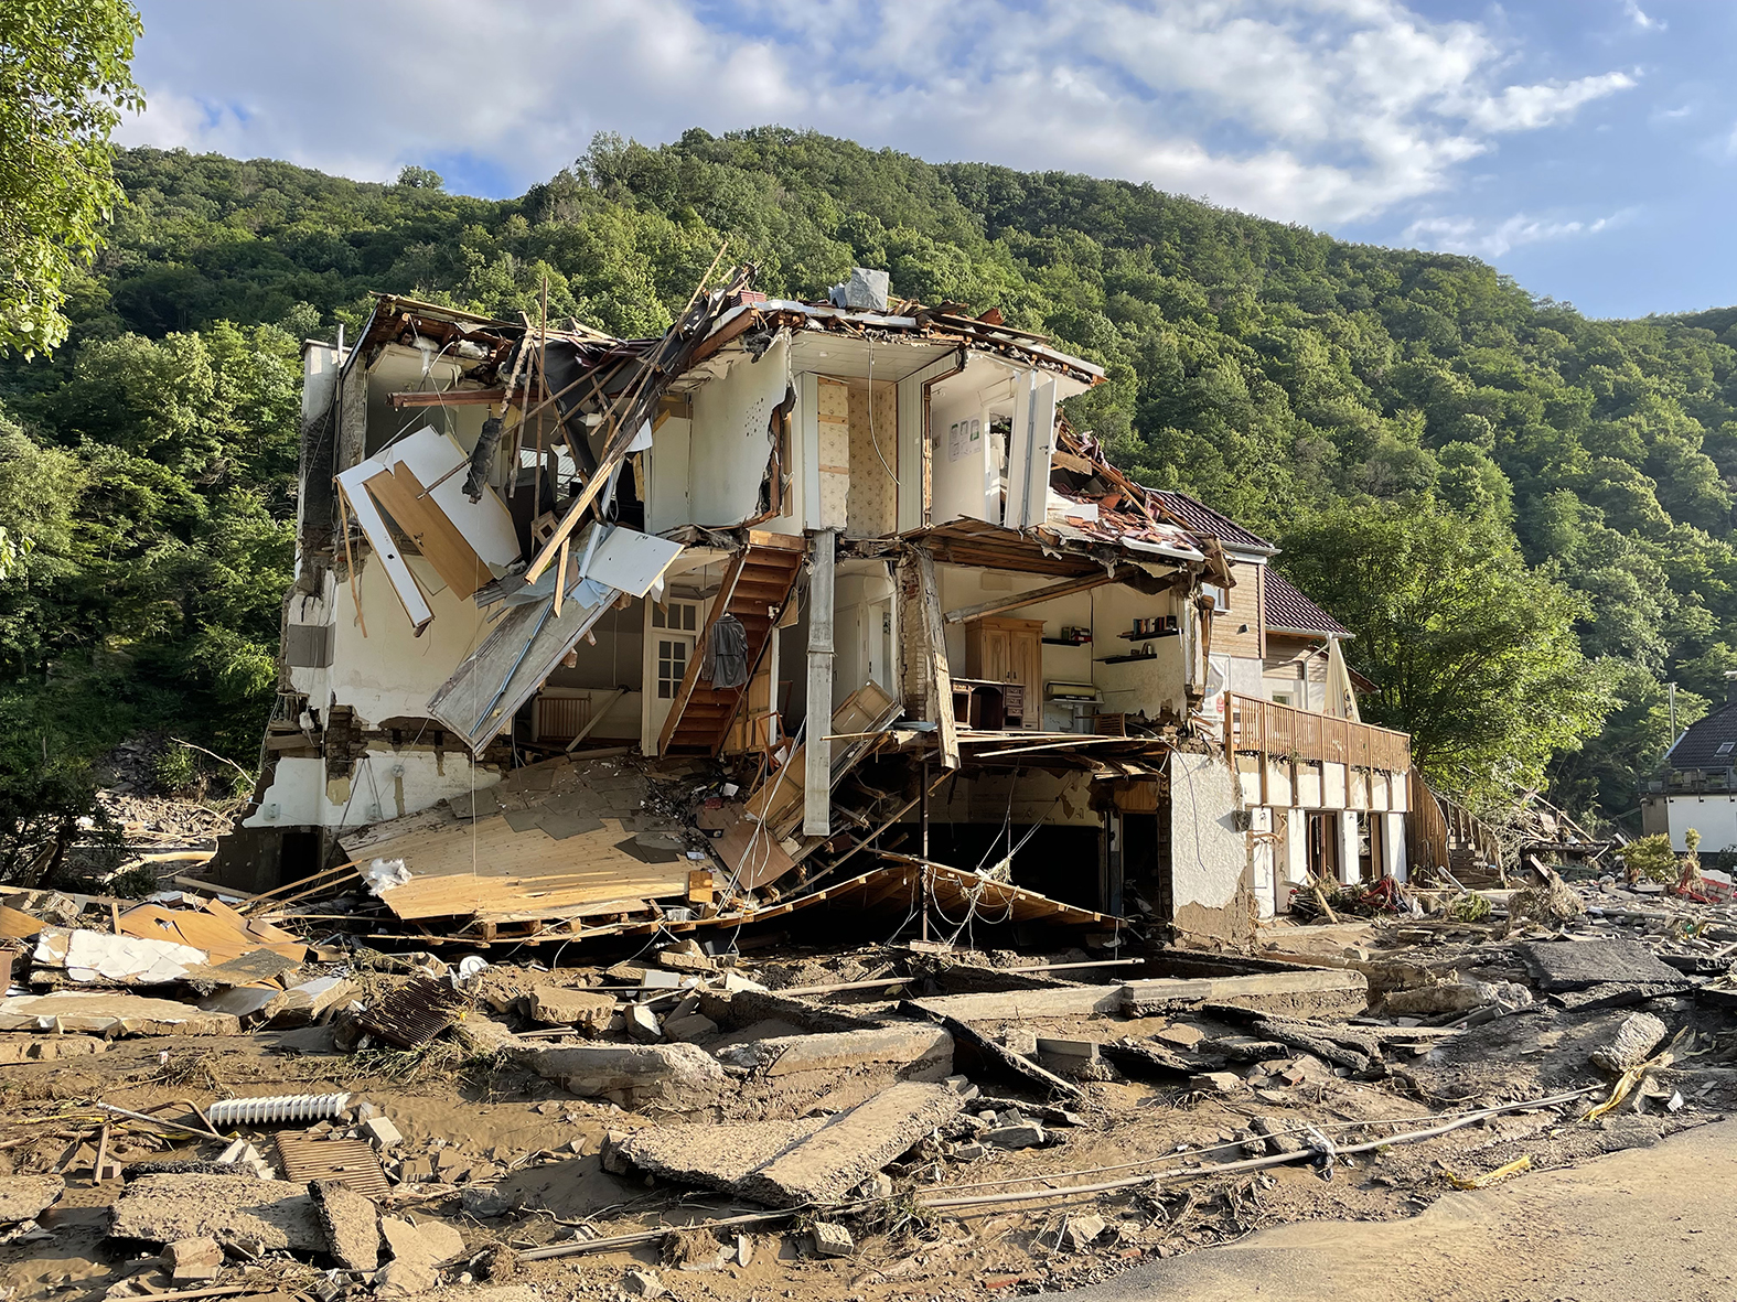
[[64, 281], [122, 198], [108, 137], [144, 108], [141, 31], [125, 0], [0, 5], [0, 345], [26, 356], [66, 339]]

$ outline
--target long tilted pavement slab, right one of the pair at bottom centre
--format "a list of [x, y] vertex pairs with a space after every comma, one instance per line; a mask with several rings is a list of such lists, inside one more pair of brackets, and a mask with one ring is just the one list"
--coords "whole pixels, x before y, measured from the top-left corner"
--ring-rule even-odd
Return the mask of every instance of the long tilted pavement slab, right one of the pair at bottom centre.
[[754, 1172], [742, 1182], [742, 1193], [769, 1207], [842, 1201], [962, 1106], [941, 1085], [893, 1085], [830, 1118], [811, 1139]]

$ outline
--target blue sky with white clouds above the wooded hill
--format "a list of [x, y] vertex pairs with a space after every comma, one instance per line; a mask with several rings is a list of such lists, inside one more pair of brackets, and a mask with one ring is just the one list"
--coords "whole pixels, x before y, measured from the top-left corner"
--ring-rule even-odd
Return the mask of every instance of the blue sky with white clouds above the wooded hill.
[[125, 142], [518, 194], [598, 130], [782, 123], [1737, 302], [1728, 0], [142, 0]]

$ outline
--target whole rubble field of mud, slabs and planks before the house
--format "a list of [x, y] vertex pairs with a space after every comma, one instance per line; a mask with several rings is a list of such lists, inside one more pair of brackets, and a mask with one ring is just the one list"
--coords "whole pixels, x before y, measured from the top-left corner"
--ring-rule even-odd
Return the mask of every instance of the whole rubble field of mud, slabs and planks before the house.
[[1579, 889], [1555, 932], [1487, 892], [1256, 957], [254, 951], [271, 998], [198, 969], [76, 1012], [38, 967], [0, 1005], [0, 1297], [980, 1299], [1410, 1215], [1737, 1104], [1732, 910]]

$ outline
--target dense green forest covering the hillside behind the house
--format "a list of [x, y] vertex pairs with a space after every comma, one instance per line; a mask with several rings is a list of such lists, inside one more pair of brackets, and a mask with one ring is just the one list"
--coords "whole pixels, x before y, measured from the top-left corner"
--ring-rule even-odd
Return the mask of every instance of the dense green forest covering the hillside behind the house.
[[413, 167], [122, 149], [115, 175], [68, 340], [0, 356], [0, 835], [89, 809], [129, 736], [257, 766], [302, 339], [370, 292], [516, 318], [545, 278], [551, 318], [655, 333], [726, 238], [775, 295], [884, 267], [1105, 365], [1073, 425], [1273, 538], [1357, 634], [1365, 717], [1478, 807], [1544, 788], [1638, 832], [1666, 684], [1687, 724], [1737, 670], [1737, 309], [1588, 319], [1475, 259], [775, 127], [599, 135], [505, 201]]

